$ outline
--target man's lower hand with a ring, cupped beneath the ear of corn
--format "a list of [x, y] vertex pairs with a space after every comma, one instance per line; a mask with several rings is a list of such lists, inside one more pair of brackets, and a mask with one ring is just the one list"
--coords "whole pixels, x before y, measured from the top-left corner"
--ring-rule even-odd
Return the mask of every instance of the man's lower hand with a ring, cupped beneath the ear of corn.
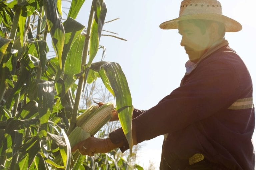
[[82, 155], [93, 156], [95, 153], [107, 153], [115, 148], [122, 146], [123, 143], [113, 144], [110, 138], [100, 139], [95, 137], [89, 137], [72, 148], [72, 152], [77, 149]]

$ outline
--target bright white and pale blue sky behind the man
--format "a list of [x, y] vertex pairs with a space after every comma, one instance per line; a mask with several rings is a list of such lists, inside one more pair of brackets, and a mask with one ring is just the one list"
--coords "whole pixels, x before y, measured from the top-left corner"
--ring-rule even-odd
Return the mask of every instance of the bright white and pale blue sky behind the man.
[[[128, 41], [102, 36], [106, 47], [105, 61], [118, 62], [126, 75], [134, 108], [147, 110], [179, 87], [185, 74], [188, 56], [180, 46], [178, 30], [161, 30], [159, 24], [177, 18], [178, 0], [105, 0], [108, 11], [104, 30], [119, 33]], [[256, 84], [256, 22], [255, 0], [220, 0], [223, 14], [243, 26], [238, 33], [226, 33], [225, 38], [245, 62], [253, 84]], [[91, 1], [85, 1], [77, 21], [87, 26]], [[109, 34], [102, 32], [102, 34]], [[95, 61], [100, 60], [101, 50]], [[254, 92], [254, 96], [256, 96]], [[254, 137], [255, 138], [255, 137]], [[255, 139], [253, 140], [255, 141]], [[163, 137], [142, 142], [138, 164], [148, 167], [149, 160], [159, 169]]]

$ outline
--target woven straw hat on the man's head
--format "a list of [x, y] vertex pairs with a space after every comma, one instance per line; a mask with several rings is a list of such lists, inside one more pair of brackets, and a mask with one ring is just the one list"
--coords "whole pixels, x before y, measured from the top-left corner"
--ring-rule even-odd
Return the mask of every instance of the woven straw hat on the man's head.
[[160, 24], [161, 29], [178, 29], [182, 20], [212, 20], [225, 25], [226, 32], [242, 30], [239, 22], [222, 15], [221, 4], [217, 0], [184, 0], [181, 2], [179, 18]]

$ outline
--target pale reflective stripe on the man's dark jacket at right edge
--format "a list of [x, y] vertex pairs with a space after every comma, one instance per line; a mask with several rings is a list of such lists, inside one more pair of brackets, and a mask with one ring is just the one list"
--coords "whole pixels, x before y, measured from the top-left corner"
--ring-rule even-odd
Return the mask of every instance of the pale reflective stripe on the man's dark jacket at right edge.
[[240, 110], [240, 109], [251, 109], [254, 107], [252, 97], [238, 99], [228, 109]]

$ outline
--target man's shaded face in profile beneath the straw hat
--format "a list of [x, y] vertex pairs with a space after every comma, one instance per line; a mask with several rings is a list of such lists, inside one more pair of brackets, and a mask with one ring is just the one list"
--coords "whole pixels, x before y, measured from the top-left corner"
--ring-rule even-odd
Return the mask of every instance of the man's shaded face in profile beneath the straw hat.
[[196, 63], [212, 45], [210, 29], [203, 34], [199, 27], [188, 21], [179, 22], [179, 34], [182, 36], [180, 45], [184, 46], [189, 60]]

